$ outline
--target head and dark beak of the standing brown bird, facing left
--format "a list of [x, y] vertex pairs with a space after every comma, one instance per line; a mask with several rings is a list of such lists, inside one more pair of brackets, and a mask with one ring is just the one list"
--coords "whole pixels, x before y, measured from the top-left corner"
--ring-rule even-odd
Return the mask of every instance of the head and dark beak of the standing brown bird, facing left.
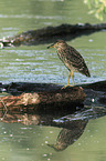
[[47, 47], [49, 48], [66, 48], [67, 47], [67, 43], [64, 41], [64, 40], [57, 40], [55, 43], [51, 44]]

